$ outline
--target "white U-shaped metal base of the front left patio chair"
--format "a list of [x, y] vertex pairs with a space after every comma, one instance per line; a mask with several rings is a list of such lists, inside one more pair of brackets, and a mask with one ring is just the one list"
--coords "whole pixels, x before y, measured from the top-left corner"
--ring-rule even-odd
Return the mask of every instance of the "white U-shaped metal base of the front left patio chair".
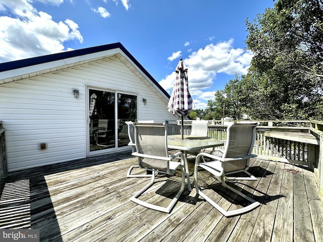
[[150, 208], [150, 209], [154, 209], [160, 212], [165, 212], [165, 213], [170, 213], [171, 210], [173, 209], [173, 207], [175, 206], [175, 204], [177, 203], [179, 197], [182, 195], [184, 188], [185, 188], [185, 171], [184, 168], [181, 167], [182, 170], [182, 184], [181, 184], [181, 188], [178, 191], [178, 193], [176, 194], [176, 196], [173, 198], [172, 202], [168, 205], [168, 207], [161, 207], [161, 206], [157, 206], [157, 205], [153, 205], [144, 201], [141, 201], [138, 199], [138, 197], [140, 197], [140, 195], [142, 195], [145, 191], [147, 191], [153, 184], [154, 184], [154, 180], [155, 180], [155, 175], [153, 173], [153, 175], [151, 176], [151, 180], [150, 183], [147, 184], [143, 189], [141, 189], [139, 192], [137, 192], [134, 196], [132, 196], [130, 198], [131, 201], [144, 206], [146, 208]]

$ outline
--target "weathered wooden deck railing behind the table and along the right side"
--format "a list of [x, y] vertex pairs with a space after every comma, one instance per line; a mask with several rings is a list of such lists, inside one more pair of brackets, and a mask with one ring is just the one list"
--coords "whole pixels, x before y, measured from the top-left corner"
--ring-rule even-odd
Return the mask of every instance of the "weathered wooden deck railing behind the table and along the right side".
[[[232, 120], [230, 122], [240, 122]], [[318, 187], [319, 197], [323, 197], [323, 122], [317, 120], [260, 120], [261, 126], [256, 129], [256, 142], [253, 153], [261, 159], [288, 162], [291, 164], [308, 166], [314, 172]], [[180, 122], [177, 122], [178, 124]], [[181, 128], [176, 122], [169, 122], [169, 134], [180, 134]], [[218, 140], [226, 139], [226, 129], [229, 121], [210, 120], [208, 136]], [[286, 132], [280, 138], [268, 137], [271, 132]], [[296, 132], [296, 133], [293, 133]], [[313, 142], [302, 138], [300, 133], [311, 136]], [[190, 121], [184, 123], [184, 134], [190, 134]], [[293, 134], [289, 139], [288, 134]], [[300, 134], [295, 138], [295, 134]]]

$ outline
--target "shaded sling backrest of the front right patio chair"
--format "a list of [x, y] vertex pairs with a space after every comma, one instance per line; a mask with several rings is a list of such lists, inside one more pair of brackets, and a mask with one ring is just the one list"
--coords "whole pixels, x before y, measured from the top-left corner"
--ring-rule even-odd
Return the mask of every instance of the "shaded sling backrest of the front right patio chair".
[[[250, 155], [256, 137], [258, 123], [230, 124], [227, 128], [226, 147], [222, 158], [233, 158]], [[223, 162], [225, 172], [245, 169], [249, 159]]]

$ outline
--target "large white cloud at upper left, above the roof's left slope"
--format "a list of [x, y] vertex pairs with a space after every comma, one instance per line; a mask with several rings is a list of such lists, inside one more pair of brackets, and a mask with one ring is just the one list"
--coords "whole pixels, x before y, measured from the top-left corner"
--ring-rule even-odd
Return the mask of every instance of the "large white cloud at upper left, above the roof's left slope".
[[[39, 2], [60, 5], [63, 0]], [[31, 3], [31, 0], [0, 0], [0, 10], [8, 15], [0, 17], [0, 62], [61, 52], [68, 49], [63, 44], [68, 40], [83, 42], [75, 22], [69, 19], [55, 22]]]

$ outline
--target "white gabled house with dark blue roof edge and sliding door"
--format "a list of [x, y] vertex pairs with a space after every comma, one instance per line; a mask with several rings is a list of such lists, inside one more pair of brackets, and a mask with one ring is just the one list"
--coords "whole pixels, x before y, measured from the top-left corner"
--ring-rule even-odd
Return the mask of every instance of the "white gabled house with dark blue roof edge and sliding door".
[[129, 149], [124, 122], [176, 119], [169, 99], [121, 43], [0, 64], [8, 170]]

